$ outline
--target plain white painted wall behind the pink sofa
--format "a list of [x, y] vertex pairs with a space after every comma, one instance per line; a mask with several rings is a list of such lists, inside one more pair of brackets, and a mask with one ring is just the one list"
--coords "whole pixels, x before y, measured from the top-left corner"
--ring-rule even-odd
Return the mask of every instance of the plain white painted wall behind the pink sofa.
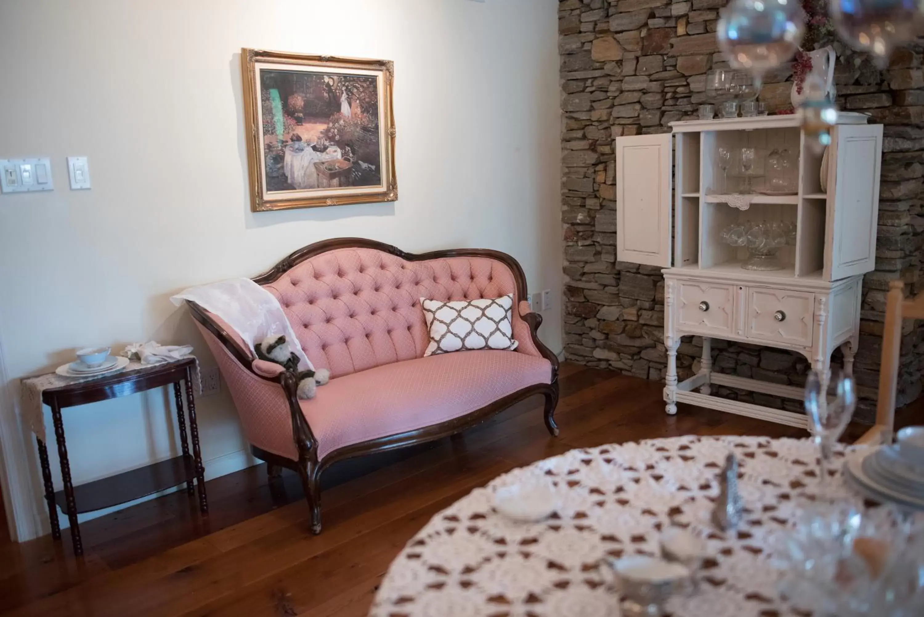
[[[84, 345], [191, 341], [211, 366], [169, 296], [254, 276], [339, 236], [411, 252], [470, 246], [515, 255], [530, 290], [553, 290], [541, 335], [560, 350], [556, 5], [2, 0], [0, 157], [51, 156], [55, 179], [52, 193], [0, 196], [0, 349], [10, 390]], [[243, 46], [394, 60], [400, 200], [250, 213]], [[67, 155], [89, 156], [91, 191], [68, 190]], [[173, 455], [166, 402], [153, 391], [66, 410], [75, 480]], [[209, 475], [247, 464], [226, 394], [201, 399], [199, 409]], [[16, 426], [5, 401], [2, 413], [4, 426]], [[4, 455], [27, 457], [15, 468], [33, 472], [28, 490], [7, 488], [19, 505], [42, 509], [34, 439], [17, 430]], [[18, 516], [20, 537], [35, 533], [27, 518]]]

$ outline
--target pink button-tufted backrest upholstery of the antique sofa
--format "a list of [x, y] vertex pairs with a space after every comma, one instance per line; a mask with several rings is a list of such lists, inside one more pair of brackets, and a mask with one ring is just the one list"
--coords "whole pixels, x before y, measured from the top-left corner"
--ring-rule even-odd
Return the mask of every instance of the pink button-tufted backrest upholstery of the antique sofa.
[[334, 377], [422, 356], [429, 336], [420, 298], [475, 300], [514, 293], [518, 349], [539, 355], [517, 310], [513, 272], [489, 257], [407, 261], [376, 249], [335, 249], [263, 287], [282, 304], [311, 364], [330, 369]]

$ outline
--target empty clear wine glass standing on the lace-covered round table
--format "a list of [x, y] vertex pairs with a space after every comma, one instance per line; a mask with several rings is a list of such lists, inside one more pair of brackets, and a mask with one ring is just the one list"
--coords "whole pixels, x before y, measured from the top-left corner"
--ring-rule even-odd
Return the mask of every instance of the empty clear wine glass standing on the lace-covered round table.
[[806, 379], [805, 408], [808, 413], [808, 429], [819, 449], [820, 491], [827, 487], [827, 470], [831, 463], [833, 446], [844, 433], [857, 408], [857, 386], [854, 377], [836, 371], [834, 373], [833, 401], [828, 401], [827, 388], [822, 388], [818, 373], [808, 371]]

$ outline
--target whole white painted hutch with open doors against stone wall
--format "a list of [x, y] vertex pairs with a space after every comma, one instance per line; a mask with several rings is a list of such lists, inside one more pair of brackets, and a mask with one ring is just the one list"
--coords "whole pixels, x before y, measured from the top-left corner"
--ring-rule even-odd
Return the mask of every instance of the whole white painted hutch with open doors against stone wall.
[[[689, 120], [672, 123], [673, 133], [616, 139], [617, 258], [667, 268], [667, 413], [682, 401], [807, 426], [802, 413], [710, 396], [711, 385], [721, 385], [802, 399], [793, 386], [712, 372], [711, 339], [800, 352], [821, 375], [840, 346], [845, 368], [852, 368], [879, 211], [882, 127], [866, 122], [861, 114], [840, 115], [827, 154], [827, 192], [822, 155], [808, 147], [796, 115]], [[713, 194], [722, 187], [719, 147], [746, 145], [797, 154], [797, 194], [758, 195], [744, 210], [727, 203], [735, 198]], [[796, 224], [795, 245], [779, 253], [783, 269], [743, 269], [747, 249], [723, 242], [729, 224], [763, 219]], [[702, 360], [699, 373], [678, 384], [676, 352], [685, 335], [702, 337]]]

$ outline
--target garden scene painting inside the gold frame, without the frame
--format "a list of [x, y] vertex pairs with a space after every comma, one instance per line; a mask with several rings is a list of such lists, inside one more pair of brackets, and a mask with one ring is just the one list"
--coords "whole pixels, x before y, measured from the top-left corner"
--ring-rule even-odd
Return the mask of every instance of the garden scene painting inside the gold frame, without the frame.
[[379, 81], [261, 68], [266, 191], [382, 186]]

